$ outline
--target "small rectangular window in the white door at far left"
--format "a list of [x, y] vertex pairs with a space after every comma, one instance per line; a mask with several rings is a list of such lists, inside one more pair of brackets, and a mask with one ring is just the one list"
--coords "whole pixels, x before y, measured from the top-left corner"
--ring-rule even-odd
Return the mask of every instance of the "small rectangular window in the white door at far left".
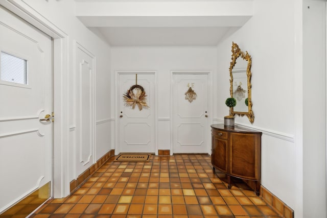
[[1, 52], [1, 80], [28, 84], [27, 61], [16, 56]]

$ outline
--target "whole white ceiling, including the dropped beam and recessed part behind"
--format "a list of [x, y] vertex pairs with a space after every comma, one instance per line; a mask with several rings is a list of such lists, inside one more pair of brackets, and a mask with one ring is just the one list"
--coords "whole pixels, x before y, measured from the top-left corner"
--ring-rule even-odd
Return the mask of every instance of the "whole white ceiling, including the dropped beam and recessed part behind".
[[75, 0], [110, 45], [217, 45], [252, 16], [252, 0]]

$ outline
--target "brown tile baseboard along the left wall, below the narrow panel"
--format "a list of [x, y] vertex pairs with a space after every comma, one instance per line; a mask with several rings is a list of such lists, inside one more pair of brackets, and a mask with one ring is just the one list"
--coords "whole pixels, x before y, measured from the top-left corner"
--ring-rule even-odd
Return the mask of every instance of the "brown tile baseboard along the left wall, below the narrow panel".
[[86, 171], [74, 179], [70, 183], [70, 192], [73, 193], [78, 189], [84, 182], [92, 176], [105, 162], [107, 162], [111, 157], [114, 157], [114, 149], [103, 155], [95, 164], [91, 165]]

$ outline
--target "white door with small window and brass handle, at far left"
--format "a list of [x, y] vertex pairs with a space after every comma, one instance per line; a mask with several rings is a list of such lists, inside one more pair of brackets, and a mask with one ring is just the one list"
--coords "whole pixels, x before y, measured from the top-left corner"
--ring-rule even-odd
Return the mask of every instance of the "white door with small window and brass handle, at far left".
[[52, 178], [52, 39], [0, 7], [0, 212]]

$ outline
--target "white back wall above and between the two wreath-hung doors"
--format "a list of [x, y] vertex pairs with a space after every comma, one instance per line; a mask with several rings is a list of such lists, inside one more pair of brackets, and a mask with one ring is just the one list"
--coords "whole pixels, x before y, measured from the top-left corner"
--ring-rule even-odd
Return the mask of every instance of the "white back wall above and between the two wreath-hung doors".
[[[216, 78], [215, 46], [112, 46], [111, 99], [114, 104], [116, 70], [157, 72], [157, 149], [171, 148], [171, 70], [212, 70]], [[214, 88], [214, 99], [216, 98]], [[214, 112], [216, 111], [214, 107]], [[213, 113], [214, 116], [216, 113]], [[112, 120], [117, 120], [112, 111]], [[112, 133], [113, 134], [113, 133]], [[112, 135], [114, 137], [114, 135]], [[114, 146], [114, 144], [113, 144]]]

